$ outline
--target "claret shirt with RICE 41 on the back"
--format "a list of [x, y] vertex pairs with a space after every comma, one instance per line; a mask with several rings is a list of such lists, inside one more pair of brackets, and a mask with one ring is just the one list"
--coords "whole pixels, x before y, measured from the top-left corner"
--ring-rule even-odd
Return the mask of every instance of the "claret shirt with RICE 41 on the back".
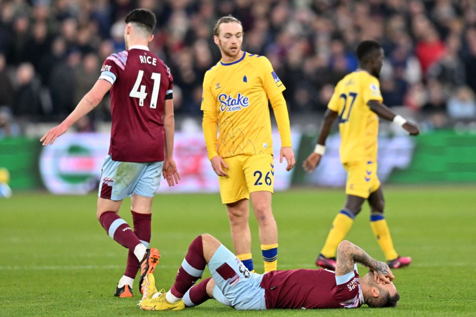
[[104, 61], [99, 79], [111, 83], [113, 160], [164, 160], [164, 102], [172, 98], [169, 67], [146, 46], [135, 45]]

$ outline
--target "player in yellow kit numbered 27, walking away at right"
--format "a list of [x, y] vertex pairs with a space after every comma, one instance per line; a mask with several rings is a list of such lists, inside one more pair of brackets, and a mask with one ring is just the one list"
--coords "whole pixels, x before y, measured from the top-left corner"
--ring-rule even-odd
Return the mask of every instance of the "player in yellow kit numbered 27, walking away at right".
[[339, 117], [341, 134], [340, 157], [347, 170], [345, 207], [337, 214], [316, 265], [335, 269], [336, 250], [352, 227], [365, 200], [370, 205], [370, 226], [390, 268], [411, 263], [410, 257], [400, 257], [393, 247], [392, 237], [383, 215], [384, 199], [377, 177], [378, 117], [400, 125], [410, 135], [419, 133], [415, 124], [396, 115], [383, 105], [378, 82], [384, 53], [379, 43], [363, 41], [357, 47], [359, 68], [342, 79], [334, 90], [324, 114], [317, 145], [304, 161], [312, 172], [325, 152], [325, 142], [332, 122]]

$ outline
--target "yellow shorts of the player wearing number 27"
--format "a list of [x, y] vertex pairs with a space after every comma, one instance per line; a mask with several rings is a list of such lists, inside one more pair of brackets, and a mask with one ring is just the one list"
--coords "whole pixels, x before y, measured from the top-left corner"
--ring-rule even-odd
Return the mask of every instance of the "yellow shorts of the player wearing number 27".
[[370, 193], [380, 187], [375, 160], [345, 163], [344, 168], [347, 170], [347, 195], [367, 199]]

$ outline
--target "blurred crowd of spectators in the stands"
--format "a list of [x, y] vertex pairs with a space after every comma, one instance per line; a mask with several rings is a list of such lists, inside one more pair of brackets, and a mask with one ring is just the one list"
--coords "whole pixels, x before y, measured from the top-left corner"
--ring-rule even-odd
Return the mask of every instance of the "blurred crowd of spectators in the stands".
[[[220, 58], [216, 20], [233, 14], [245, 51], [266, 55], [287, 90], [290, 115], [323, 112], [334, 85], [357, 68], [359, 41], [378, 40], [387, 106], [403, 106], [435, 128], [476, 117], [474, 0], [2, 0], [0, 137], [9, 124], [63, 119], [93, 86], [101, 64], [124, 49], [124, 17], [157, 15], [151, 50], [174, 76], [176, 113], [200, 115], [204, 73]], [[110, 120], [109, 100], [78, 123]]]

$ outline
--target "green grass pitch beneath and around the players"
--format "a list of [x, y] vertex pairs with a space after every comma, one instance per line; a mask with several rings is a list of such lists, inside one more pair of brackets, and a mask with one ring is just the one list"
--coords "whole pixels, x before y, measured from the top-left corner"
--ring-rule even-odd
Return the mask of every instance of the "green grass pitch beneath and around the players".
[[[386, 187], [386, 219], [397, 251], [413, 258], [394, 270], [400, 292], [394, 309], [237, 312], [215, 301], [181, 312], [145, 312], [132, 299], [113, 297], [127, 251], [96, 220], [96, 196], [14, 193], [0, 200], [0, 316], [475, 316], [476, 187]], [[280, 269], [313, 268], [343, 189], [303, 189], [274, 195]], [[132, 223], [125, 200], [120, 215]], [[211, 233], [231, 246], [218, 194], [156, 196], [151, 246], [163, 257], [158, 288], [168, 289], [188, 244]], [[253, 255], [262, 271], [253, 216]], [[347, 239], [384, 260], [365, 206]], [[360, 267], [360, 272], [365, 270]], [[209, 276], [206, 272], [204, 276]]]

